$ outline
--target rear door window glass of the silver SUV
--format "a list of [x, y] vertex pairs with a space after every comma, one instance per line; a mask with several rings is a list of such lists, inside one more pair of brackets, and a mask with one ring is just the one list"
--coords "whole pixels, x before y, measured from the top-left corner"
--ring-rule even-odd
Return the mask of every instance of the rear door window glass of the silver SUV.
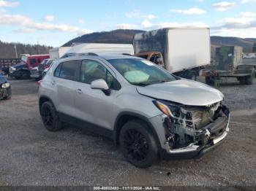
[[69, 79], [69, 80], [78, 80], [78, 71], [80, 67], [80, 61], [67, 61], [61, 63], [54, 74], [56, 77]]

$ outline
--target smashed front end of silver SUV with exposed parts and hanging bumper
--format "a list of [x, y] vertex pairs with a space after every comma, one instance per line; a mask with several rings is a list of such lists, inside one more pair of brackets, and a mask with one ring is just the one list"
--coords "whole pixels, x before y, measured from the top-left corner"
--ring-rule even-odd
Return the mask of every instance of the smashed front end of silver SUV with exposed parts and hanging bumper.
[[[187, 124], [185, 120], [177, 124], [172, 117], [165, 114], [152, 118], [154, 125], [158, 123], [157, 133], [162, 147], [162, 158], [200, 157], [221, 144], [230, 130], [230, 112], [226, 106], [220, 107], [223, 111], [218, 111], [217, 119], [200, 128], [184, 125]], [[162, 124], [160, 127], [159, 123]]]

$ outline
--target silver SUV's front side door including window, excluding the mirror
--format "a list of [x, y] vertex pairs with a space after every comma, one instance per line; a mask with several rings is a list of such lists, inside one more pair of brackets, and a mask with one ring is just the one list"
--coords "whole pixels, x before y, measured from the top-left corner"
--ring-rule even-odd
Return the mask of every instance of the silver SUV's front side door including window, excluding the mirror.
[[[105, 79], [110, 87], [110, 95], [102, 90], [91, 89], [91, 82]], [[113, 106], [116, 95], [116, 81], [113, 71], [110, 72], [101, 61], [83, 60], [80, 67], [80, 82], [75, 94], [75, 115], [80, 120], [91, 122], [103, 128], [112, 128]]]

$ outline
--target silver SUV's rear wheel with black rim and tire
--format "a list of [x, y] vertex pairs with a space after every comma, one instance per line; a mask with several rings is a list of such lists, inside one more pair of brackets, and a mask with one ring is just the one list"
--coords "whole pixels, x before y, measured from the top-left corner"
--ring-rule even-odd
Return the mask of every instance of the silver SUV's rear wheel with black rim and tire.
[[42, 117], [42, 122], [47, 130], [61, 130], [61, 120], [59, 120], [56, 109], [50, 101], [46, 101], [42, 104], [40, 114]]

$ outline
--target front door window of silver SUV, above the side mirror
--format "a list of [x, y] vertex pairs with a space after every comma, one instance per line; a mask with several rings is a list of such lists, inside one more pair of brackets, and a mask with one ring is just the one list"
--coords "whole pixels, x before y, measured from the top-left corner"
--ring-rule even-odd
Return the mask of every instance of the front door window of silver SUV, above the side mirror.
[[92, 60], [82, 61], [80, 82], [91, 84], [96, 79], [105, 79], [110, 88], [114, 86], [114, 77], [101, 63]]

